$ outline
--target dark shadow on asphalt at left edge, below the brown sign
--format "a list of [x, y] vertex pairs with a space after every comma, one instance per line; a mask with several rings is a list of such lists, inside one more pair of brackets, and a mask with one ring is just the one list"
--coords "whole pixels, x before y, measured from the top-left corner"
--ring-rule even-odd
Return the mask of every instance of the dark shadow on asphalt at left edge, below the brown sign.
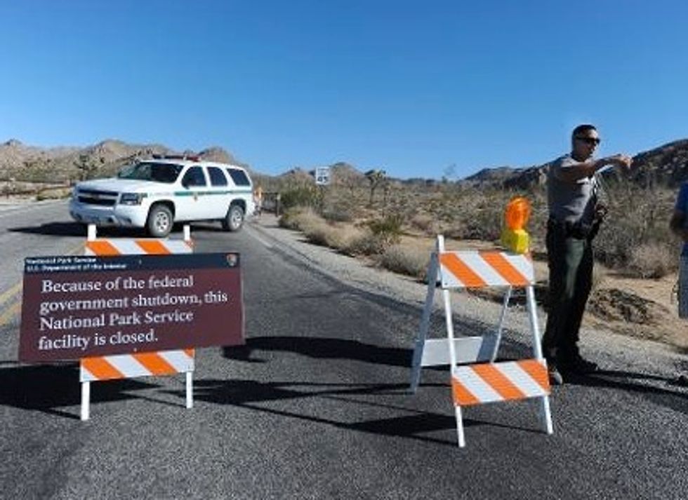
[[[60, 410], [62, 407], [81, 405], [79, 367], [68, 365], [18, 366], [0, 369], [0, 405], [37, 410], [70, 419], [79, 419], [79, 413]], [[107, 401], [139, 398], [131, 391], [157, 387], [134, 379], [111, 380], [91, 384], [91, 405]], [[146, 398], [150, 399], [150, 398]], [[155, 400], [157, 403], [166, 403]], [[172, 404], [172, 403], [166, 403]], [[172, 404], [173, 406], [179, 406]]]

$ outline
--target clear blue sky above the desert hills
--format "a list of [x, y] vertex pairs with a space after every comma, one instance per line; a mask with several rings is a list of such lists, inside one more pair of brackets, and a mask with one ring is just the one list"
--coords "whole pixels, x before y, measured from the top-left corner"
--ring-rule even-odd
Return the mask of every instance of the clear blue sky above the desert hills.
[[688, 2], [0, 0], [0, 141], [395, 177], [688, 138]]

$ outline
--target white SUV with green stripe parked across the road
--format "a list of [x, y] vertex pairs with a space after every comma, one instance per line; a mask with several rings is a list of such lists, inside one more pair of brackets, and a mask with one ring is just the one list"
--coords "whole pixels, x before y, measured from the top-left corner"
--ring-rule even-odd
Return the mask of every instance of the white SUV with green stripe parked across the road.
[[175, 222], [219, 220], [225, 231], [238, 231], [254, 210], [246, 170], [192, 156], [154, 156], [117, 177], [79, 182], [70, 201], [77, 222], [145, 227], [154, 238]]

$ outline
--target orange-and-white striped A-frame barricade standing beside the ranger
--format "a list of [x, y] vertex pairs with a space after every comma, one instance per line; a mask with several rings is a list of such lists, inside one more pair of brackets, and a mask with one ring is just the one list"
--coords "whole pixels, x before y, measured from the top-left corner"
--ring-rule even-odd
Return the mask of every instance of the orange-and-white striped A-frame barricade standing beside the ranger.
[[[543, 430], [551, 434], [552, 417], [548, 395], [550, 384], [542, 356], [530, 255], [494, 251], [444, 250], [444, 237], [437, 236], [428, 269], [428, 295], [414, 347], [411, 391], [415, 392], [425, 366], [450, 365], [451, 390], [456, 413], [458, 445], [463, 447], [461, 407], [523, 398], [541, 400]], [[437, 281], [444, 298], [446, 339], [428, 339], [430, 315]], [[452, 288], [501, 287], [505, 297], [497, 331], [479, 337], [454, 337], [449, 290]], [[505, 315], [513, 288], [524, 288], [533, 339], [534, 358], [496, 363]]]

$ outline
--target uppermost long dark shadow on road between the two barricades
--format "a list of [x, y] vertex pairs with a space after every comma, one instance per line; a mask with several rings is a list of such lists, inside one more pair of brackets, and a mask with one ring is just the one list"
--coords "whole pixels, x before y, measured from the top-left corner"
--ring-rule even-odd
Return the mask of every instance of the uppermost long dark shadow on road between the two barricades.
[[380, 347], [357, 340], [324, 337], [254, 337], [246, 345], [223, 348], [223, 356], [248, 363], [264, 363], [254, 351], [288, 351], [310, 358], [350, 359], [377, 365], [411, 366], [411, 349]]

